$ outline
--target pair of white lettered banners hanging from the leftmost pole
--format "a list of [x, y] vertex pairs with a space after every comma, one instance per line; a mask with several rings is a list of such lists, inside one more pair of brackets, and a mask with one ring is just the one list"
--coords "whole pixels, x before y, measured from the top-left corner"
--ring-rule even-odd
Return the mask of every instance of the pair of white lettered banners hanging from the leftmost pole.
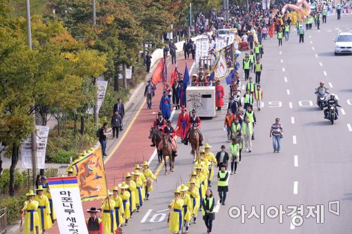
[[[35, 126], [37, 142], [37, 168], [44, 169], [46, 164], [46, 142], [48, 141], [49, 126]], [[29, 136], [21, 143], [22, 167], [32, 169], [32, 138]]]

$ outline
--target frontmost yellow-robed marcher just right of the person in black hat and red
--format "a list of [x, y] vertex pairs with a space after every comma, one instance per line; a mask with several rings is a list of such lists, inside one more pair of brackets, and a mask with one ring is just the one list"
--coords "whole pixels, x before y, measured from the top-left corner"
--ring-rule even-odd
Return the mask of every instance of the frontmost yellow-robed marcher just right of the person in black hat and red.
[[101, 220], [103, 221], [104, 234], [114, 234], [117, 229], [114, 213], [115, 202], [111, 199], [111, 195], [113, 195], [113, 193], [108, 191], [108, 195], [101, 202], [101, 210], [103, 211]]

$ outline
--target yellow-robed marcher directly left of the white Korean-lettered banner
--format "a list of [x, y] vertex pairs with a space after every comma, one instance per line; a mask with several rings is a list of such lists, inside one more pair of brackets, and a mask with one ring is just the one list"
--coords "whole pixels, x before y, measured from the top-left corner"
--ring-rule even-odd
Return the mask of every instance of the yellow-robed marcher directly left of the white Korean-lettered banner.
[[45, 233], [46, 230], [52, 228], [52, 222], [50, 217], [50, 202], [48, 197], [43, 193], [43, 187], [41, 185], [36, 189], [37, 195], [35, 200], [39, 203], [37, 213], [39, 216], [39, 229]]

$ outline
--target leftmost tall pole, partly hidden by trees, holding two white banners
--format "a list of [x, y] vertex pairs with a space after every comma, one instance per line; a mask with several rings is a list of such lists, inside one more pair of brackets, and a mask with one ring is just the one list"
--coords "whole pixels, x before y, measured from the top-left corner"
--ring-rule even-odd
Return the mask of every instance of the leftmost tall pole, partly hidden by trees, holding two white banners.
[[[30, 0], [26, 0], [26, 17], [27, 17], [27, 37], [28, 37], [28, 47], [32, 50], [32, 29], [30, 27]], [[33, 171], [33, 188], [35, 188], [35, 180], [37, 179], [37, 136], [36, 136], [36, 123], [35, 123], [35, 103], [33, 101], [32, 106], [33, 126], [34, 129], [31, 134], [32, 139], [32, 171]]]

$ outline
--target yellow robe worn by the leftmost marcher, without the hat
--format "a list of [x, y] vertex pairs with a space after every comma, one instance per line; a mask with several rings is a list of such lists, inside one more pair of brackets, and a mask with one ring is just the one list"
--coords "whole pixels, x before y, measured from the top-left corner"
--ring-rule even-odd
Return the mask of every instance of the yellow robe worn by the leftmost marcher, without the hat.
[[[39, 234], [35, 231], [35, 227], [38, 226], [39, 231], [39, 216], [37, 212], [37, 208], [39, 206], [39, 202], [37, 201], [26, 201], [24, 202], [25, 208], [25, 217], [24, 217], [24, 225], [23, 225], [23, 234]], [[30, 216], [32, 215], [32, 231], [30, 231]], [[40, 231], [39, 231], [40, 232]]]

